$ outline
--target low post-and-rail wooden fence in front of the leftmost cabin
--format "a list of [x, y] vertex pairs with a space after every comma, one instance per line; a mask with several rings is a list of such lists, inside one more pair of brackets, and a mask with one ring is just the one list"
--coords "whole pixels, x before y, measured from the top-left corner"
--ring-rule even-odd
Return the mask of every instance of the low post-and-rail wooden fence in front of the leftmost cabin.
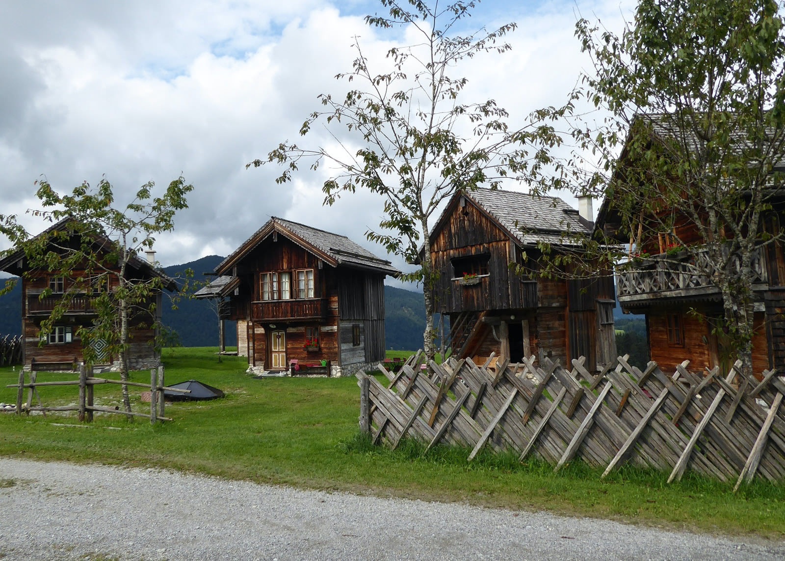
[[[190, 394], [190, 390], [181, 390], [177, 387], [166, 387], [163, 385], [164, 370], [162, 366], [150, 371], [150, 383], [139, 382], [123, 382], [122, 380], [111, 380], [108, 378], [95, 378], [87, 376], [87, 369], [82, 363], [79, 365], [79, 380], [62, 380], [56, 382], [37, 382], [38, 372], [35, 370], [30, 372], [30, 381], [25, 382], [27, 372], [22, 370], [19, 373], [19, 383], [11, 383], [5, 387], [16, 387], [16, 414], [30, 413], [31, 411], [42, 411], [46, 415], [47, 411], [76, 411], [78, 412], [80, 421], [92, 421], [93, 412], [100, 413], [118, 413], [120, 415], [128, 416], [141, 416], [150, 420], [151, 424], [157, 421], [171, 420], [165, 416], [165, 400], [163, 392], [174, 391], [181, 394]], [[137, 413], [127, 412], [124, 409], [115, 409], [112, 407], [104, 407], [94, 404], [93, 387], [99, 384], [113, 383], [121, 386], [144, 387], [150, 390], [150, 413]], [[38, 387], [43, 386], [79, 386], [79, 401], [77, 405], [64, 405], [64, 406], [43, 406], [41, 405], [41, 397], [38, 394]], [[27, 388], [27, 402], [24, 400], [24, 389]], [[38, 405], [34, 406], [33, 395], [38, 400]]]

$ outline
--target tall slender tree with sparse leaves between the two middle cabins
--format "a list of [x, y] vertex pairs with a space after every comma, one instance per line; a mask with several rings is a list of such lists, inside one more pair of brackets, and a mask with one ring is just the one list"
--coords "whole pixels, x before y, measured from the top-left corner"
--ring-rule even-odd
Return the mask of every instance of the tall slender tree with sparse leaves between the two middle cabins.
[[423, 345], [429, 359], [435, 353], [432, 287], [439, 274], [430, 256], [434, 214], [455, 192], [480, 185], [497, 188], [504, 179], [538, 181], [553, 163], [549, 149], [560, 143], [550, 119], [564, 108], [531, 113], [525, 126], [516, 128], [508, 126], [509, 115], [495, 100], [466, 99], [462, 64], [506, 53], [510, 46], [503, 39], [516, 28], [509, 23], [460, 35], [456, 30], [466, 27], [476, 3], [380, 0], [384, 13], [367, 16], [366, 23], [380, 31], [405, 28], [418, 39], [392, 47], [379, 63], [367, 57], [356, 39], [352, 70], [336, 76], [351, 89], [343, 97], [319, 95], [322, 109], [300, 130], [306, 136], [323, 125], [340, 148], [284, 141], [248, 164], [282, 165], [279, 183], [290, 181], [301, 163], [313, 170], [324, 164], [330, 174], [323, 184], [325, 205], [356, 189], [378, 194], [383, 219], [367, 238], [407, 262], [418, 262], [418, 270], [403, 280], [422, 283]]

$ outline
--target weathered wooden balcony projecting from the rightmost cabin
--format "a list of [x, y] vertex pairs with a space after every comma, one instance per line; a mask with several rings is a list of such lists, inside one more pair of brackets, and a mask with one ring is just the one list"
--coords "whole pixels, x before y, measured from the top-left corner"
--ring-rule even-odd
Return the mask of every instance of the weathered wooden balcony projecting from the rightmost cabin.
[[[699, 251], [692, 257], [662, 254], [630, 262], [629, 270], [616, 275], [619, 303], [641, 304], [652, 299], [719, 295], [720, 289], [703, 274], [710, 270], [708, 259], [707, 251]], [[733, 266], [738, 270], [739, 259], [734, 259]], [[765, 288], [769, 278], [761, 251], [755, 251], [751, 268], [752, 288]]]

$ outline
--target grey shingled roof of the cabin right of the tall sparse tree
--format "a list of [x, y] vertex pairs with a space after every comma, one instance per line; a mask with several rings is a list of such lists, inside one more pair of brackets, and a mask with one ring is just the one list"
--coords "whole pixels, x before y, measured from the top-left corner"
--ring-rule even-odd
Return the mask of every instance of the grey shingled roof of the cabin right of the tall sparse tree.
[[433, 227], [436, 236], [449, 216], [455, 211], [461, 197], [472, 201], [505, 233], [521, 245], [569, 243], [565, 234], [591, 233], [591, 222], [580, 217], [578, 211], [557, 196], [530, 195], [526, 192], [501, 189], [474, 189], [458, 192]]

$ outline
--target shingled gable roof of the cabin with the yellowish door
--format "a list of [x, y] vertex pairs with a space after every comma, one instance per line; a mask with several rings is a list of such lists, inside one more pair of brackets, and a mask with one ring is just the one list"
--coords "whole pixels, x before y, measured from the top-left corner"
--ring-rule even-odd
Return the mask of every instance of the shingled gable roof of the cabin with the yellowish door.
[[355, 269], [374, 270], [378, 273], [397, 277], [400, 271], [389, 261], [378, 258], [359, 244], [340, 234], [326, 232], [298, 222], [291, 222], [273, 216], [254, 234], [245, 240], [240, 247], [228, 255], [216, 268], [219, 275], [227, 273], [243, 257], [273, 232], [277, 232], [305, 251], [319, 257], [330, 266], [347, 266]]

